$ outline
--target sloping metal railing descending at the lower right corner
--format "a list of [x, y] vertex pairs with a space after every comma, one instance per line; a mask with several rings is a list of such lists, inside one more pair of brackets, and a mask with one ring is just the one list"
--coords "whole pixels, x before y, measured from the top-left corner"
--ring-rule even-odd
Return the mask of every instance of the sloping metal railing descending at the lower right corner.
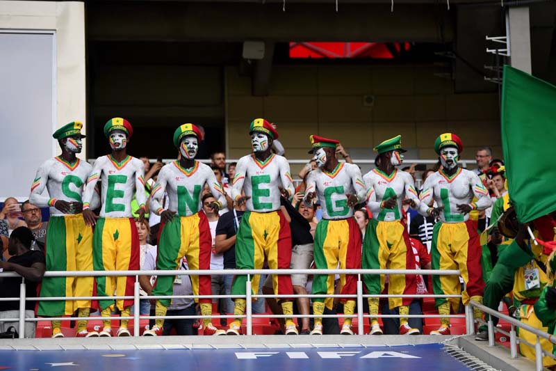
[[[552, 354], [551, 352], [545, 352], [541, 346], [541, 338], [546, 339], [552, 342], [553, 344], [556, 344], [556, 338], [553, 338], [553, 336], [550, 335], [549, 333], [541, 331], [533, 326], [530, 326], [529, 324], [524, 324], [519, 319], [500, 313], [497, 310], [493, 310], [492, 308], [486, 307], [480, 303], [477, 303], [476, 301], [471, 300], [469, 302], [469, 306], [479, 308], [480, 310], [482, 310], [483, 313], [489, 315], [489, 321], [487, 322], [488, 329], [489, 329], [489, 347], [496, 347], [494, 341], [495, 340], [494, 333], [499, 332], [504, 334], [505, 336], [509, 336], [509, 353], [510, 356], [514, 359], [518, 358], [517, 347], [519, 343], [523, 342], [523, 344], [534, 348], [535, 368], [537, 369], [537, 371], [543, 370], [543, 356], [548, 356], [556, 360], [556, 356], [554, 354]], [[502, 329], [498, 329], [498, 327], [494, 326], [491, 316], [497, 317], [499, 319], [504, 319], [506, 322], [509, 322], [509, 324], [511, 324], [511, 329], [509, 333], [507, 333], [507, 331], [504, 331]], [[529, 331], [534, 336], [536, 336], [535, 343], [531, 344], [530, 342], [524, 339], [518, 338], [516, 333], [516, 327], [523, 329], [525, 331]]]

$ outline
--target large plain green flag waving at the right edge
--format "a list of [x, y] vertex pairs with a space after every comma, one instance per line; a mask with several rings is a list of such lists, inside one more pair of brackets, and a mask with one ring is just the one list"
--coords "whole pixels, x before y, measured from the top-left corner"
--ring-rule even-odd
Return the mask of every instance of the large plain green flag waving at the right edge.
[[556, 86], [505, 65], [501, 119], [509, 198], [527, 223], [556, 211]]

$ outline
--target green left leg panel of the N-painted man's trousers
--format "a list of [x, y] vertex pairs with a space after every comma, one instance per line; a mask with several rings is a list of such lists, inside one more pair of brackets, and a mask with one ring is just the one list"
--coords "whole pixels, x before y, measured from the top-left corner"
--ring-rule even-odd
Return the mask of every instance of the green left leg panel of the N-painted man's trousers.
[[[158, 242], [158, 254], [156, 257], [156, 269], [163, 271], [173, 271], [177, 269], [176, 259], [181, 247], [181, 217], [174, 216], [174, 219], [165, 223], [161, 239]], [[156, 285], [152, 290], [152, 295], [172, 295], [174, 292], [175, 276], [158, 276]], [[172, 299], [158, 299], [165, 307], [170, 306]]]

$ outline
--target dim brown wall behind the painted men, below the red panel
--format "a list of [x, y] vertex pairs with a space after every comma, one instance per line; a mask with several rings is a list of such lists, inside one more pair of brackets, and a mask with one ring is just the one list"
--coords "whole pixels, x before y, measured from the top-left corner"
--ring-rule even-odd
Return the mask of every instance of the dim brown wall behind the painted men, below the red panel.
[[[434, 139], [455, 132], [464, 142], [464, 159], [481, 145], [501, 156], [496, 93], [458, 94], [452, 81], [434, 76], [433, 65], [274, 65], [270, 94], [251, 95], [250, 77], [227, 72], [228, 156], [250, 151], [253, 118], [277, 123], [287, 157], [309, 158], [309, 135], [340, 140], [347, 150], [375, 157], [373, 145], [402, 134], [404, 147], [420, 159], [435, 159]], [[363, 105], [373, 95], [373, 106]], [[295, 173], [295, 170], [293, 173]]]

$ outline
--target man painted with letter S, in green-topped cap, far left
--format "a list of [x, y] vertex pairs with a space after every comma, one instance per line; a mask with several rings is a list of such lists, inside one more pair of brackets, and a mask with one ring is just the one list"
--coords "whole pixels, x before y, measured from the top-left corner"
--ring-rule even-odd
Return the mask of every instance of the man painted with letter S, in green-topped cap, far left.
[[[68, 123], [52, 135], [58, 141], [62, 153], [47, 159], [38, 168], [31, 185], [29, 202], [38, 207], [49, 206], [50, 219], [47, 230], [46, 261], [48, 271], [91, 271], [92, 228], [85, 226], [83, 220], [82, 191], [91, 172], [87, 161], [81, 161], [81, 134], [83, 124], [79, 121]], [[47, 194], [43, 194], [44, 190]], [[95, 209], [99, 204], [97, 191], [92, 189], [90, 206]], [[91, 297], [93, 294], [92, 277], [46, 277], [41, 283], [40, 297]], [[87, 320], [91, 301], [42, 300], [37, 314], [44, 317], [72, 315], [77, 311], [76, 336], [89, 336]], [[62, 322], [51, 321], [52, 337], [63, 337]]]

